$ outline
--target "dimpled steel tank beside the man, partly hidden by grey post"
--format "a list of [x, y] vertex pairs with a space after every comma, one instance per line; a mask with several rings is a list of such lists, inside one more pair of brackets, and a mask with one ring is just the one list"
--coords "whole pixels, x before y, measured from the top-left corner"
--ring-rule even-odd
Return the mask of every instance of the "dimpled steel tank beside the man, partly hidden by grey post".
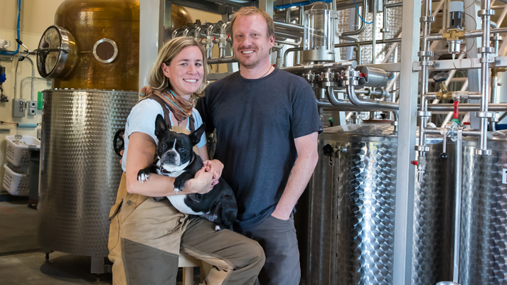
[[[454, 145], [448, 141], [449, 158], [441, 161], [442, 138], [428, 142], [427, 172], [415, 189], [413, 284], [451, 279]], [[396, 159], [397, 133], [388, 124], [319, 135], [307, 208], [296, 213], [308, 216], [300, 239], [304, 284], [392, 284]]]

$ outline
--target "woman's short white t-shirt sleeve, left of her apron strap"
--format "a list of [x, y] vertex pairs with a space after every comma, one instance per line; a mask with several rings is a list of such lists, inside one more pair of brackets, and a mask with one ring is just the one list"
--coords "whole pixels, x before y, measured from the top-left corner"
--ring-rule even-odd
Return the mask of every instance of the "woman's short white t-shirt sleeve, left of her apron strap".
[[163, 112], [158, 102], [151, 99], [145, 99], [132, 108], [127, 119], [127, 127], [125, 128], [125, 136], [139, 131], [151, 136], [155, 143], [159, 141], [155, 136], [155, 120], [156, 115]]

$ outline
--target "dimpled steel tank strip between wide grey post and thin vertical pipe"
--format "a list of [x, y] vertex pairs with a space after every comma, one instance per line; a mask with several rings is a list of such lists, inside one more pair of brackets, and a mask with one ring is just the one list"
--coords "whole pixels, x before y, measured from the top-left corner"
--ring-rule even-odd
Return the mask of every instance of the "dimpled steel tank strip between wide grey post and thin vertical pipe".
[[421, 182], [415, 173], [412, 284], [452, 280], [454, 244], [455, 146], [447, 139], [449, 158], [442, 161], [442, 137], [427, 137], [426, 171]]

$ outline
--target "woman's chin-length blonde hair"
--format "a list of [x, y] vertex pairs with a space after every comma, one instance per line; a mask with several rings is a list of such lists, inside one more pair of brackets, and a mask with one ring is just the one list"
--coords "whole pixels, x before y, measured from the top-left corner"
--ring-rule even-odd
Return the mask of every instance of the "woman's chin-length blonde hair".
[[[174, 38], [171, 41], [167, 42], [162, 48], [159, 50], [159, 55], [156, 56], [155, 64], [151, 67], [148, 74], [148, 85], [153, 90], [157, 90], [160, 92], [164, 92], [172, 88], [171, 81], [169, 78], [164, 75], [164, 71], [162, 71], [162, 63], [166, 63], [166, 65], [171, 65], [171, 61], [176, 58], [176, 55], [181, 53], [181, 50], [188, 46], [196, 46], [201, 50], [201, 54], [203, 55], [203, 84], [206, 84], [206, 75], [208, 75], [208, 63], [206, 61], [206, 53], [204, 51], [203, 45], [196, 42], [193, 38], [189, 37], [178, 37]], [[200, 88], [201, 89], [201, 88]], [[202, 97], [203, 94], [194, 93], [192, 97]]]

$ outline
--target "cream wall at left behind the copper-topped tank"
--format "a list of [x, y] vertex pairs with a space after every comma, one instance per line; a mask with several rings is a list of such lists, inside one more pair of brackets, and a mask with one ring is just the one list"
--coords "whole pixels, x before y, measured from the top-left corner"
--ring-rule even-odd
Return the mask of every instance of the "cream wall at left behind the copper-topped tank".
[[[41, 40], [42, 33], [46, 31], [48, 26], [53, 25], [55, 11], [64, 0], [21, 0], [21, 24], [20, 38], [21, 41], [30, 49], [36, 49], [38, 42]], [[0, 38], [11, 41], [11, 50], [16, 50], [16, 20], [17, 20], [17, 0], [0, 0]], [[201, 21], [218, 22], [221, 16], [218, 14], [208, 13], [206, 11], [198, 11], [188, 9], [194, 21], [198, 18]], [[21, 50], [24, 50], [21, 47]], [[218, 56], [218, 50], [215, 50], [214, 56]], [[31, 56], [33, 63], [36, 64], [36, 58]], [[6, 60], [0, 58], [0, 65], [6, 68], [7, 80], [4, 82], [4, 95], [9, 97], [9, 102], [0, 103], [0, 121], [4, 122], [25, 122], [40, 123], [41, 111], [38, 110], [35, 116], [26, 116], [23, 118], [13, 118], [12, 101], [14, 99], [14, 74], [16, 70], [17, 60]], [[215, 67], [211, 72], [215, 71]], [[18, 80], [16, 97], [20, 97], [21, 80], [24, 77], [31, 76], [32, 68], [28, 60], [23, 60], [18, 65]], [[36, 77], [40, 77], [37, 69]], [[50, 88], [46, 84], [46, 80], [36, 80], [34, 84], [34, 100], [37, 100], [37, 92]], [[21, 98], [30, 100], [31, 82], [25, 80], [23, 82], [23, 94]], [[9, 124], [0, 124], [0, 129], [9, 129], [8, 131], [0, 131], [0, 185], [4, 180], [4, 163], [6, 163], [6, 141], [5, 136], [21, 134], [27, 136], [36, 136], [36, 129], [20, 129]], [[40, 126], [38, 127], [40, 129]], [[4, 191], [0, 186], [0, 191]]]

